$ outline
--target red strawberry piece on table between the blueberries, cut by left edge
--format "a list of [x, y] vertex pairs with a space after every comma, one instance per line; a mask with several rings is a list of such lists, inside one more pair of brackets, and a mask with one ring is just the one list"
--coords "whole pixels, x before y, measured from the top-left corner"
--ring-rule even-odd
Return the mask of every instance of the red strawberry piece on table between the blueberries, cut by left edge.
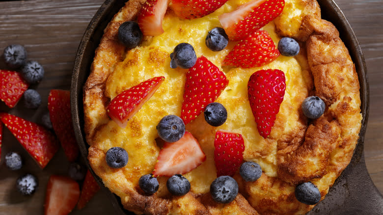
[[20, 73], [0, 70], [0, 99], [9, 108], [15, 107], [28, 86]]

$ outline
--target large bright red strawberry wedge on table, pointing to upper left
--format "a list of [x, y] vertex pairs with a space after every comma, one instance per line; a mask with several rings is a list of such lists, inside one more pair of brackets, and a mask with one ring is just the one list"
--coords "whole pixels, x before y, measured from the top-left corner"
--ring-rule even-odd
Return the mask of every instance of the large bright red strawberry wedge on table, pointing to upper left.
[[42, 169], [60, 147], [55, 134], [43, 126], [8, 113], [1, 117], [1, 121]]

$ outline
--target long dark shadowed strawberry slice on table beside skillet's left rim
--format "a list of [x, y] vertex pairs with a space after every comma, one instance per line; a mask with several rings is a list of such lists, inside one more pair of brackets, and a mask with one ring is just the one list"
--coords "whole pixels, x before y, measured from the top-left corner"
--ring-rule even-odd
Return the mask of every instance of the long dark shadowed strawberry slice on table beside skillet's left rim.
[[70, 94], [69, 90], [51, 90], [48, 96], [48, 109], [53, 129], [68, 161], [72, 162], [79, 156], [79, 146], [72, 124]]

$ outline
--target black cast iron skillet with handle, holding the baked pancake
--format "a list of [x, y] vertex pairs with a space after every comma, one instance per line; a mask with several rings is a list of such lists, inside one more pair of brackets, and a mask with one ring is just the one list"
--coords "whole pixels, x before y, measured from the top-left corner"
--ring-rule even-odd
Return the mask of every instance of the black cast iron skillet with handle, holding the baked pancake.
[[[363, 144], [369, 110], [369, 85], [364, 57], [354, 31], [338, 5], [333, 0], [318, 0], [318, 2], [321, 5], [322, 18], [337, 27], [355, 63], [360, 82], [363, 121], [351, 163], [330, 188], [325, 200], [308, 215], [382, 215], [382, 194], [371, 181], [364, 162]], [[77, 142], [84, 158], [87, 157], [89, 145], [85, 142], [83, 132], [82, 86], [89, 75], [94, 51], [98, 47], [104, 28], [123, 5], [124, 2], [121, 0], [106, 0], [86, 28], [77, 51], [72, 75], [71, 108]], [[87, 165], [89, 167], [88, 163]], [[92, 170], [91, 172], [98, 183], [103, 185], [101, 179]], [[109, 194], [111, 203], [119, 214], [133, 215], [123, 209], [118, 196], [111, 192]]]

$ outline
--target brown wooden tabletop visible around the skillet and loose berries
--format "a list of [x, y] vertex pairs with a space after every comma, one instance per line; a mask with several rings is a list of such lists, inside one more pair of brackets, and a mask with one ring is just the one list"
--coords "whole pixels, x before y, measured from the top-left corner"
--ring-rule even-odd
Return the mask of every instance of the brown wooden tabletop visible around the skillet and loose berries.
[[[89, 21], [104, 0], [25, 0], [0, 2], [0, 52], [9, 44], [26, 47], [28, 59], [37, 60], [45, 69], [44, 79], [31, 86], [42, 96], [37, 110], [27, 110], [22, 104], [13, 109], [2, 102], [0, 111], [16, 114], [39, 122], [47, 111], [51, 89], [70, 89], [75, 54]], [[370, 115], [365, 136], [364, 153], [367, 169], [377, 188], [383, 192], [383, 4], [381, 0], [335, 0], [340, 6], [356, 36], [367, 64], [370, 82]], [[0, 68], [4, 63], [0, 62]], [[69, 117], [69, 116], [68, 116]], [[68, 161], [60, 151], [44, 170], [27, 155], [18, 141], [3, 130], [0, 163], [0, 215], [41, 215], [46, 185], [52, 174], [66, 175]], [[21, 170], [5, 167], [4, 157], [9, 151], [19, 151], [26, 164]], [[38, 177], [39, 188], [32, 197], [23, 197], [15, 190], [15, 182], [23, 173]], [[81, 211], [71, 214], [103, 215], [113, 211], [105, 190]]]

